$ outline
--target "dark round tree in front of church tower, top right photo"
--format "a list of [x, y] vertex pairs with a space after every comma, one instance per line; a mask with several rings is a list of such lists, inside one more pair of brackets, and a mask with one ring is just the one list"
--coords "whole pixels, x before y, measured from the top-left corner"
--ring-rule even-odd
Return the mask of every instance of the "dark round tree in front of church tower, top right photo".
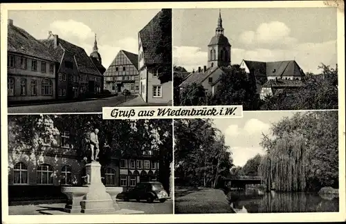
[[255, 77], [247, 75], [239, 65], [233, 65], [221, 75], [215, 99], [215, 104], [243, 105], [244, 110], [258, 109], [260, 98]]

